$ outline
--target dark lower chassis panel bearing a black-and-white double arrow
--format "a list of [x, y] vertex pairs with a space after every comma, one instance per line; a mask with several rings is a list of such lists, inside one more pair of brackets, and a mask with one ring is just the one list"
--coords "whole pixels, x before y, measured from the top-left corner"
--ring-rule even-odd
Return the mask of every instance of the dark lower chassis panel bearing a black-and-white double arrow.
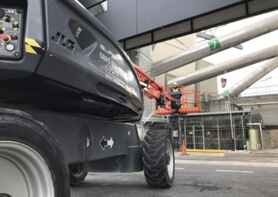
[[[12, 113], [15, 105], [0, 103], [0, 108]], [[134, 123], [22, 106], [16, 110], [30, 114], [47, 127], [58, 140], [67, 164], [82, 164], [84, 171], [142, 171], [142, 146]]]

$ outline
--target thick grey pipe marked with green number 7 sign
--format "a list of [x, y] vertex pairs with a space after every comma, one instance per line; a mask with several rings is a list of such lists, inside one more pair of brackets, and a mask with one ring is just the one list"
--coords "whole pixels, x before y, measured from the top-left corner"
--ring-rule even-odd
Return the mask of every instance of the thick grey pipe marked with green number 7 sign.
[[204, 44], [194, 46], [193, 48], [181, 53], [154, 62], [154, 74], [155, 76], [165, 74], [167, 71], [172, 71], [173, 69], [177, 69], [183, 65], [188, 65], [209, 55], [218, 53], [224, 49], [229, 49], [233, 46], [252, 40], [255, 37], [259, 37], [260, 35], [270, 33], [277, 29], [278, 15], [268, 17], [245, 28], [241, 28], [227, 35], [210, 40]]

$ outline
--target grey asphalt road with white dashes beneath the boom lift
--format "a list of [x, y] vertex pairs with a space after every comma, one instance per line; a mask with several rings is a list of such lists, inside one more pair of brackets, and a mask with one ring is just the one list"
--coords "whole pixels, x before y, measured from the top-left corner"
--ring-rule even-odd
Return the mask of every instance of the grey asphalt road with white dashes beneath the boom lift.
[[174, 186], [147, 186], [144, 173], [89, 173], [72, 196], [278, 196], [278, 158], [177, 156]]

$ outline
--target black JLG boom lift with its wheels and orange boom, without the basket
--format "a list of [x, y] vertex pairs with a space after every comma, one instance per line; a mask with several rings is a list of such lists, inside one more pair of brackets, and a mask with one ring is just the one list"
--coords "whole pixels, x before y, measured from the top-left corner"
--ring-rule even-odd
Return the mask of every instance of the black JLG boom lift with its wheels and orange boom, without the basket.
[[[0, 37], [0, 196], [70, 196], [88, 172], [144, 170], [172, 187], [170, 133], [140, 146], [140, 70], [79, 1], [1, 1]], [[148, 83], [158, 108], [180, 112]]]

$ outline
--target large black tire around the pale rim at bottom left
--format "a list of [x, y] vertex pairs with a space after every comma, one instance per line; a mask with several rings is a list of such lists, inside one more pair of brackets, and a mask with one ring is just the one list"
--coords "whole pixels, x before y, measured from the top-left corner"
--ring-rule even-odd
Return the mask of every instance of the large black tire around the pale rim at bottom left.
[[63, 151], [44, 124], [24, 112], [0, 109], [0, 141], [18, 142], [33, 148], [51, 172], [55, 196], [70, 196], [69, 171]]

